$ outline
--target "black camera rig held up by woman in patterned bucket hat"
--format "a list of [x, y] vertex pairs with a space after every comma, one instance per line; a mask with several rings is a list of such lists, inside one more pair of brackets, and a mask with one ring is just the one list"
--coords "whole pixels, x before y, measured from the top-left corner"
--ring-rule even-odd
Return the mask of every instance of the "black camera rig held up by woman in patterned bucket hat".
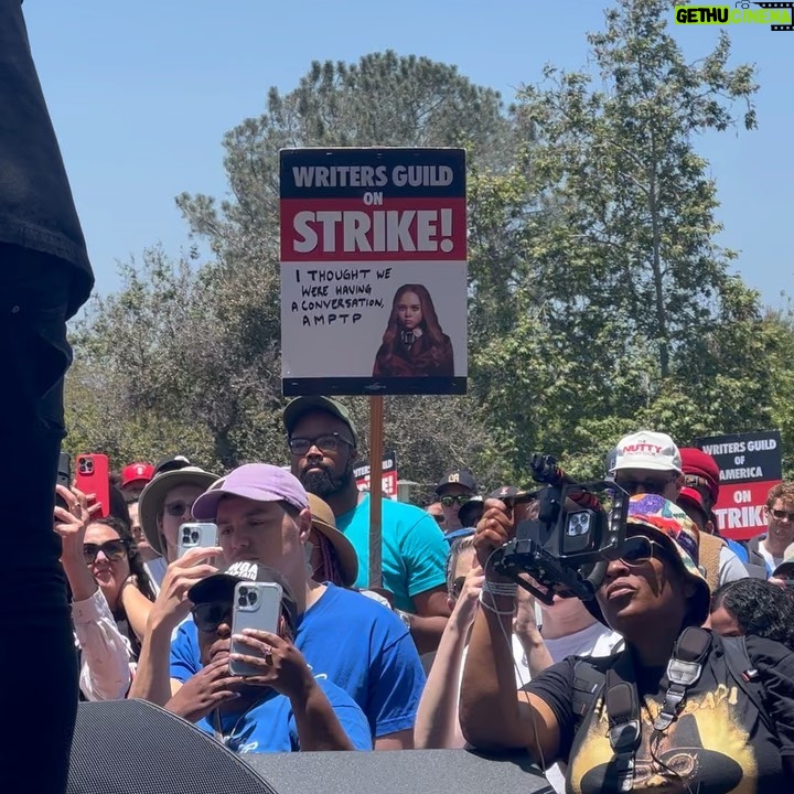
[[625, 539], [629, 494], [610, 480], [578, 483], [551, 455], [534, 454], [529, 470], [545, 487], [493, 494], [511, 505], [537, 501], [537, 517], [519, 522], [515, 538], [494, 551], [494, 569], [546, 604], [555, 596], [589, 601], [607, 571], [603, 551]]

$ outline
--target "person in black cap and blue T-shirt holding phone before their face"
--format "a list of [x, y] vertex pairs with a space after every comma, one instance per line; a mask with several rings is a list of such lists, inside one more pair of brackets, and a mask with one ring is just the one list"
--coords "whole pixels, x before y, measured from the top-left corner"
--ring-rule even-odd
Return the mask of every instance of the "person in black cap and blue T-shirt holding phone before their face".
[[[235, 587], [240, 582], [280, 586], [281, 618], [278, 634], [246, 630], [235, 636], [240, 645], [234, 654]], [[253, 589], [240, 597], [255, 604], [258, 598]], [[165, 704], [169, 711], [239, 753], [372, 750], [369, 723], [358, 705], [344, 689], [315, 677], [293, 645], [297, 605], [281, 575], [256, 562], [235, 562], [198, 581], [187, 598], [203, 666]], [[250, 675], [229, 672], [229, 658], [238, 656]]]

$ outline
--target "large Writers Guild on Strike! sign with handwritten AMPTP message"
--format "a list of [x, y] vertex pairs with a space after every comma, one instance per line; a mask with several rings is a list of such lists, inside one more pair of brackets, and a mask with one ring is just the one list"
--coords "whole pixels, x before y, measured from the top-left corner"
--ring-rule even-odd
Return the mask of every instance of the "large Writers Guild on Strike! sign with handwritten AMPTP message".
[[463, 394], [462, 149], [285, 149], [288, 396]]

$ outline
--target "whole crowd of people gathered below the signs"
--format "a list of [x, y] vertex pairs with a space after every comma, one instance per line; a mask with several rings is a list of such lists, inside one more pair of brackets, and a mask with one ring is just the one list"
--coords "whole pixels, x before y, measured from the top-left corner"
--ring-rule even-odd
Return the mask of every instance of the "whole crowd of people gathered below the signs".
[[[597, 597], [546, 603], [490, 562], [514, 537], [518, 489], [483, 497], [470, 469], [450, 470], [425, 508], [383, 500], [383, 577], [371, 588], [371, 496], [355, 481], [348, 411], [299, 397], [283, 425], [289, 466], [219, 475], [183, 455], [124, 466], [114, 485], [124, 515], [96, 518], [92, 494], [57, 486], [85, 699], [149, 700], [244, 754], [528, 748], [559, 792], [626, 781], [773, 791], [783, 780], [794, 738], [794, 483], [770, 491], [768, 532], [751, 541], [764, 565], [753, 565], [717, 532], [713, 459], [662, 432], [631, 433], [607, 455], [627, 524], [623, 544], [603, 552]], [[524, 500], [536, 521], [540, 495]], [[217, 527], [213, 545], [180, 546], [191, 522]], [[277, 632], [235, 634], [244, 581], [280, 584]], [[702, 632], [699, 672], [674, 693], [668, 663], [688, 627]], [[736, 637], [769, 695], [745, 696], [731, 677], [722, 659]], [[593, 686], [580, 713], [584, 662]], [[613, 674], [635, 691], [631, 751], [616, 752], [599, 727], [614, 717]], [[727, 755], [733, 745], [742, 752]]]

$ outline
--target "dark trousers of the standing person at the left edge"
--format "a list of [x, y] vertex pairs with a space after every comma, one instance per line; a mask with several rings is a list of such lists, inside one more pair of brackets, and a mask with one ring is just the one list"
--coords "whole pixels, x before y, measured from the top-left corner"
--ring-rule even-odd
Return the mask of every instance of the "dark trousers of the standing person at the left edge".
[[0, 775], [9, 791], [42, 794], [66, 788], [77, 709], [77, 661], [53, 532], [71, 270], [0, 245], [0, 704], [8, 720]]

